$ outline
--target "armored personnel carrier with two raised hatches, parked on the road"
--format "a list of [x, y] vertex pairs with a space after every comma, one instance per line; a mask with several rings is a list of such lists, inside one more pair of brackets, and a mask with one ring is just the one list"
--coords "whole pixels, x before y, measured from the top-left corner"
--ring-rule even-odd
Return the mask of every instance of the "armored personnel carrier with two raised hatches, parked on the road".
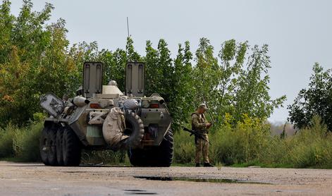
[[48, 112], [40, 137], [45, 165], [78, 166], [82, 149], [127, 150], [133, 166], [170, 166], [171, 116], [159, 94], [145, 96], [145, 63], [127, 63], [125, 92], [102, 85], [103, 63], [85, 62], [82, 88], [72, 99], [44, 94]]

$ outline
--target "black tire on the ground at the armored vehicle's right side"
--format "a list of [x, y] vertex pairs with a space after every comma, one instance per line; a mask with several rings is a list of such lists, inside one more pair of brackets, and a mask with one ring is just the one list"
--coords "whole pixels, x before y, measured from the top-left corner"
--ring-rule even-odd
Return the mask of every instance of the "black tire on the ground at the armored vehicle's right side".
[[173, 132], [168, 130], [159, 147], [129, 149], [128, 157], [133, 166], [169, 167], [173, 161]]

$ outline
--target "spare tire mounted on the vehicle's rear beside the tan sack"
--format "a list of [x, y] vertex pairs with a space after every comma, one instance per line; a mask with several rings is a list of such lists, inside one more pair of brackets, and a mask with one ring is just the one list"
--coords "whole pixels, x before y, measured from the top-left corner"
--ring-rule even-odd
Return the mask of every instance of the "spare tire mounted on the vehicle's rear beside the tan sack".
[[133, 112], [126, 113], [125, 125], [132, 131], [129, 135], [129, 139], [126, 141], [127, 146], [130, 148], [139, 147], [144, 136], [144, 125], [142, 119]]

